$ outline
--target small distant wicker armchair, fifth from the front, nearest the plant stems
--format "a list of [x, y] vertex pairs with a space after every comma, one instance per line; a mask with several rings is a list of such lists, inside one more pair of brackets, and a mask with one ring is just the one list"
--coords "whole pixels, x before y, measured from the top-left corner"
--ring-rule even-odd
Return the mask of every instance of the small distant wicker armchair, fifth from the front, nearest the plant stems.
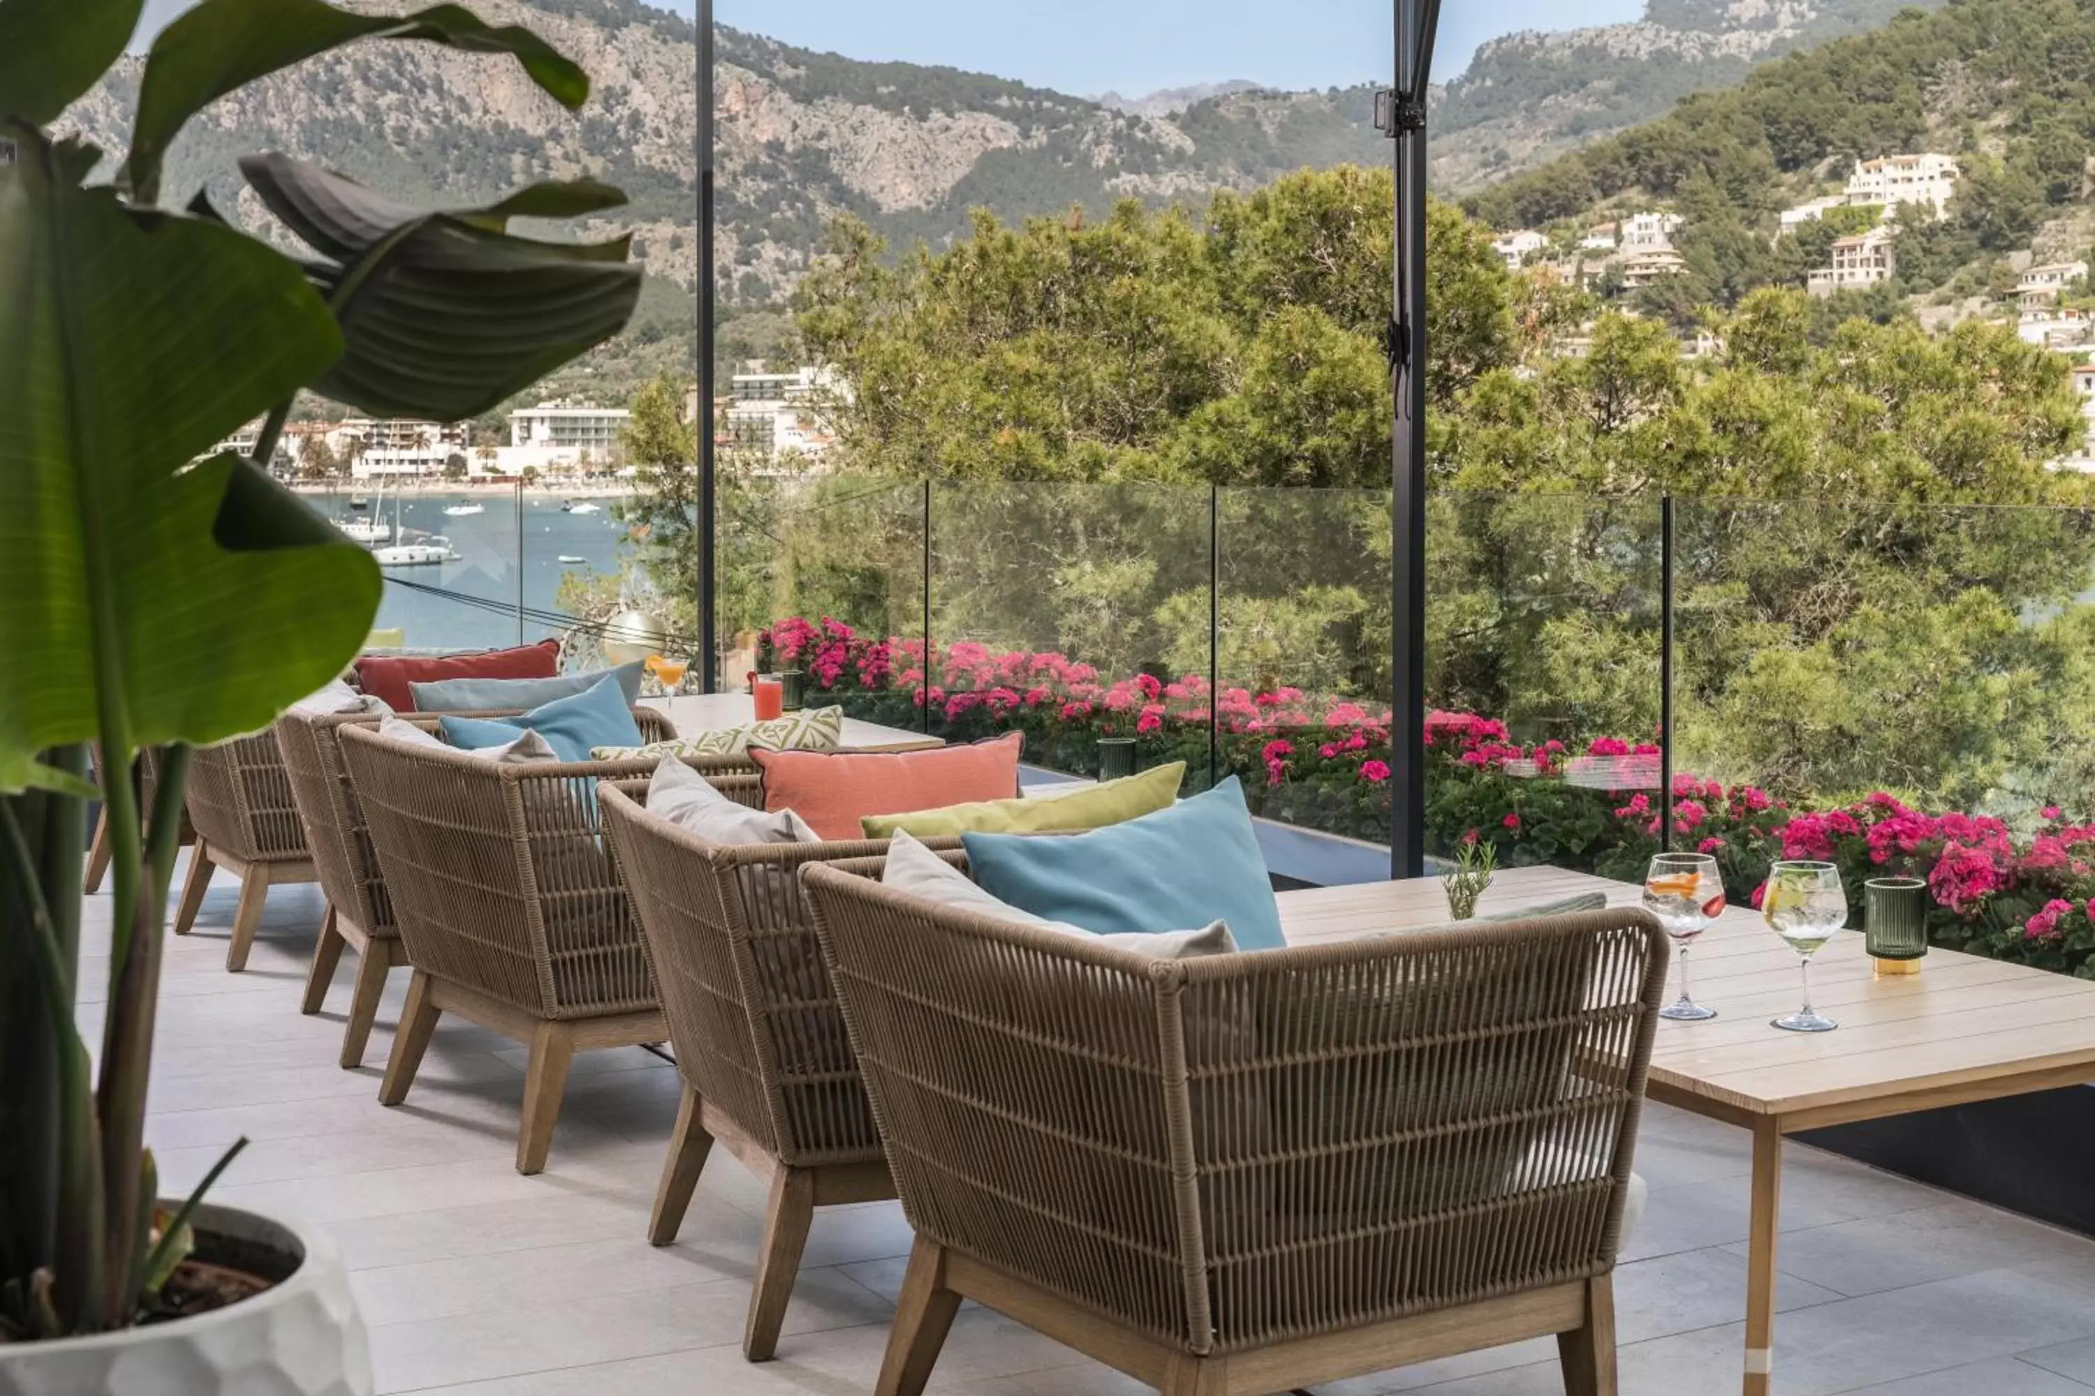
[[186, 936], [197, 923], [212, 871], [233, 873], [241, 879], [241, 900], [226, 942], [226, 969], [239, 973], [247, 969], [268, 890], [316, 877], [306, 848], [306, 820], [291, 800], [291, 776], [283, 768], [277, 735], [256, 733], [197, 747], [189, 758], [186, 808], [197, 843], [174, 910], [174, 933]]

